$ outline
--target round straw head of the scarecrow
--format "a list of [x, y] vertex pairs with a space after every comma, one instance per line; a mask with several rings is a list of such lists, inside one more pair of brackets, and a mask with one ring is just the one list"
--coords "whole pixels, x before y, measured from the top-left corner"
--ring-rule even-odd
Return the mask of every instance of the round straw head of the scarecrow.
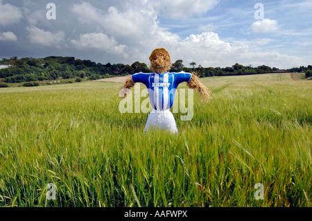
[[171, 67], [171, 58], [166, 48], [155, 48], [150, 54], [150, 69], [153, 72], [165, 73]]

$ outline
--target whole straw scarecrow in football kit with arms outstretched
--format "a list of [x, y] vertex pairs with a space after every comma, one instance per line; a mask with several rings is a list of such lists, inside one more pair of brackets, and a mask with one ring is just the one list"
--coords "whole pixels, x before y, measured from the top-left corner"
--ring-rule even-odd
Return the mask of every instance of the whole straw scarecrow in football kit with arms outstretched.
[[[211, 99], [211, 92], [202, 85], [195, 72], [168, 72], [171, 68], [171, 58], [166, 48], [155, 48], [150, 54], [149, 60], [150, 70], [153, 73], [139, 72], [128, 76], [120, 90], [130, 89], [137, 82], [146, 85], [150, 104], [154, 109], [148, 116], [144, 131], [146, 132], [151, 127], [158, 127], [162, 130], [177, 133], [175, 118], [170, 112], [177, 86], [181, 82], [187, 82], [187, 86], [190, 89], [197, 89], [207, 102]], [[126, 94], [123, 94], [123, 96], [126, 96]]]

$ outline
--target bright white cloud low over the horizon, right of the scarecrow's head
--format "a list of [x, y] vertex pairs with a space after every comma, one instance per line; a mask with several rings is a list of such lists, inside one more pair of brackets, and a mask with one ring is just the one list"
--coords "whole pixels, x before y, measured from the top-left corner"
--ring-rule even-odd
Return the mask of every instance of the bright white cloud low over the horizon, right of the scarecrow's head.
[[235, 63], [257, 67], [297, 67], [302, 65], [302, 58], [282, 55], [277, 52], [254, 52], [248, 44], [232, 46], [218, 37], [217, 33], [206, 32], [189, 35], [177, 42], [163, 44], [171, 54], [172, 61], [182, 59], [186, 67], [196, 62], [202, 67], [230, 67]]

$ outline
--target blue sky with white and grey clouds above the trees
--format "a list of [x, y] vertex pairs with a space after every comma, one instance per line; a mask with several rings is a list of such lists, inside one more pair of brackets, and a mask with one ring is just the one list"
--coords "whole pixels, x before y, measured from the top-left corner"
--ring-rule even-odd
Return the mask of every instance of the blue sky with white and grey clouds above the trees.
[[[46, 4], [55, 3], [56, 19]], [[256, 19], [256, 3], [263, 19]], [[166, 47], [173, 62], [202, 67], [312, 64], [312, 1], [0, 0], [0, 58], [73, 56], [148, 63]]]

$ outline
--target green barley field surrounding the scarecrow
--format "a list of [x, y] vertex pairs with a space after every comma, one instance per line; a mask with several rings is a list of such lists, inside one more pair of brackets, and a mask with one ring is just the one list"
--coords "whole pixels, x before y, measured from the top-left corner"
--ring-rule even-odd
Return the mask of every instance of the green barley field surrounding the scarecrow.
[[0, 89], [0, 206], [311, 206], [312, 82], [200, 80], [177, 135], [121, 114], [118, 83]]

